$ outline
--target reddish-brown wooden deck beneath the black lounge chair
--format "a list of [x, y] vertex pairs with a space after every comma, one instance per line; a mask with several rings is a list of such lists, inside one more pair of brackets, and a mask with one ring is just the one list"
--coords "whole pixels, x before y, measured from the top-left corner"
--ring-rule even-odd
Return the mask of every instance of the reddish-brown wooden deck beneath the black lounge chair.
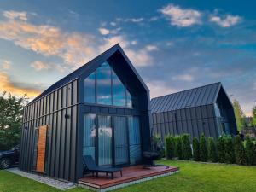
[[105, 173], [99, 173], [99, 177], [88, 175], [79, 179], [79, 185], [87, 189], [96, 191], [108, 191], [112, 189], [122, 188], [131, 184], [140, 183], [156, 177], [164, 177], [178, 172], [177, 167], [152, 166], [144, 168], [143, 166], [129, 166], [123, 168], [123, 177], [119, 172], [114, 173], [114, 178], [110, 175], [106, 177]]

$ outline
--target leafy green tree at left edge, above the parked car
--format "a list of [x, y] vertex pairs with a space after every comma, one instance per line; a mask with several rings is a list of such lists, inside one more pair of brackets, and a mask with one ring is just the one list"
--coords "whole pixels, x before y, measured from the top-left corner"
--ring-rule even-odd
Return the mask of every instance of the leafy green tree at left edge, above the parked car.
[[15, 97], [3, 92], [0, 96], [0, 150], [20, 143], [23, 108], [26, 96]]

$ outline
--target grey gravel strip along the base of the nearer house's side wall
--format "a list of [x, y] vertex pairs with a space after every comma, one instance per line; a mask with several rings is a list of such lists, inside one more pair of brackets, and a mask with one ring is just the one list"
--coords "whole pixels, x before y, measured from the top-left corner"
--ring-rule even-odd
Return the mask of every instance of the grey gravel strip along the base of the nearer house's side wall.
[[13, 173], [15, 173], [17, 175], [20, 175], [22, 177], [30, 178], [30, 179], [35, 180], [35, 181], [40, 182], [40, 183], [47, 184], [47, 185], [49, 185], [51, 187], [54, 187], [56, 189], [67, 190], [67, 189], [73, 189], [73, 188], [76, 187], [75, 183], [63, 182], [63, 181], [56, 180], [54, 178], [44, 177], [44, 176], [41, 176], [41, 175], [29, 173], [29, 172], [23, 172], [23, 171], [20, 171], [20, 169], [18, 169], [16, 167], [15, 168], [9, 168], [6, 171], [13, 172]]

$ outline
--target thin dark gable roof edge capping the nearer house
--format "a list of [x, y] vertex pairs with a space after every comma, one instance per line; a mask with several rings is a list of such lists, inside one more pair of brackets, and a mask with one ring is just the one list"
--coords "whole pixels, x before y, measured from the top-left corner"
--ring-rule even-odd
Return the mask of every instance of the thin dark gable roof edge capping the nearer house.
[[131, 64], [131, 61], [125, 55], [124, 50], [120, 47], [119, 44], [115, 44], [115, 45], [113, 45], [113, 47], [106, 50], [101, 55], [96, 56], [96, 58], [94, 58], [93, 60], [87, 62], [82, 67], [79, 67], [78, 69], [73, 71], [73, 73], [69, 73], [66, 77], [60, 79], [55, 84], [52, 84], [48, 89], [44, 90], [39, 96], [34, 98], [32, 100], [32, 102], [35, 102], [38, 99], [40, 99], [41, 97], [48, 95], [50, 92], [60, 88], [64, 84], [67, 84], [67, 83], [73, 81], [74, 79], [79, 79], [79, 77], [82, 74], [86, 73], [87, 71], [90, 71], [90, 69], [92, 67], [100, 66], [104, 61], [107, 61], [108, 58], [111, 57], [113, 54], [115, 54], [117, 51], [119, 51], [119, 53], [124, 57], [126, 63], [129, 65], [132, 72], [137, 76], [137, 79], [141, 82], [144, 89], [149, 91], [147, 85], [143, 82], [143, 79], [140, 77], [140, 75], [137, 73], [137, 70], [135, 69], [135, 67], [133, 67], [133, 65]]

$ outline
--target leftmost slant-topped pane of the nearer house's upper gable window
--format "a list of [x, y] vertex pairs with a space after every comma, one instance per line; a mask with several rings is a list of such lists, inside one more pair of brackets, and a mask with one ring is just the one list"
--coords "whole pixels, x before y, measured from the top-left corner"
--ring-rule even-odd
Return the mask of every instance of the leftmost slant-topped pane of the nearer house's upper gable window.
[[96, 102], [95, 78], [95, 73], [91, 73], [88, 78], [84, 79], [84, 102]]

